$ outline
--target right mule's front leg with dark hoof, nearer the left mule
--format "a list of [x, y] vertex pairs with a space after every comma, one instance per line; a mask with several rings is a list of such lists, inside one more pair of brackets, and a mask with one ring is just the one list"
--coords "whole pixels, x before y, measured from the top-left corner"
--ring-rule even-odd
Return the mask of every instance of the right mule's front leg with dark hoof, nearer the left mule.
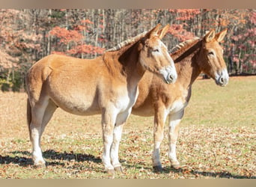
[[162, 171], [162, 164], [160, 160], [160, 144], [163, 139], [163, 132], [165, 126], [165, 108], [164, 107], [156, 107], [155, 117], [154, 117], [154, 128], [153, 128], [153, 169], [155, 171]]

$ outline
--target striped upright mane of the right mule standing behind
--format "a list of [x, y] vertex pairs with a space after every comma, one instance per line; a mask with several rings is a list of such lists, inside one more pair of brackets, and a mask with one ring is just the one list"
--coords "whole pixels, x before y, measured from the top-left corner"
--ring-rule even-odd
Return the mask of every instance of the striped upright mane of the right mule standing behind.
[[201, 40], [199, 37], [194, 37], [190, 40], [186, 40], [182, 43], [177, 44], [169, 52], [171, 57], [182, 55], [184, 52], [194, 46], [195, 43], [198, 43], [199, 40]]

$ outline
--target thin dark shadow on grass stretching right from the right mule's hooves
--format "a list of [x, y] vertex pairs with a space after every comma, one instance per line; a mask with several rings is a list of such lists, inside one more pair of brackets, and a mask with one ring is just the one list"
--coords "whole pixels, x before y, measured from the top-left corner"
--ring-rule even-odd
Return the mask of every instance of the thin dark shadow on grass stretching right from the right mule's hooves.
[[[153, 171], [154, 173], [159, 173]], [[211, 172], [211, 171], [196, 171], [196, 170], [189, 170], [188, 168], [178, 168], [174, 169], [172, 167], [162, 168], [161, 174], [169, 174], [169, 173], [176, 173], [180, 175], [191, 175], [194, 177], [216, 177], [216, 178], [226, 178], [226, 179], [256, 179], [255, 176], [243, 176], [243, 175], [234, 175], [228, 171], [221, 171], [221, 172]]]

